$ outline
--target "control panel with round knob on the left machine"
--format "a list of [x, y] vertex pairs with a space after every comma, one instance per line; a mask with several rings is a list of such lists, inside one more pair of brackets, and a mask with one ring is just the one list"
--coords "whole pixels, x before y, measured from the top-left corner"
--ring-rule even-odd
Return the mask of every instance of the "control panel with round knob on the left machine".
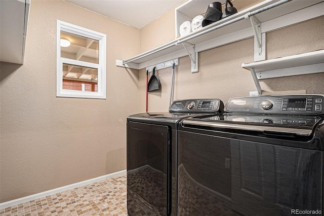
[[176, 100], [170, 106], [170, 112], [178, 113], [217, 113], [222, 112], [220, 99]]

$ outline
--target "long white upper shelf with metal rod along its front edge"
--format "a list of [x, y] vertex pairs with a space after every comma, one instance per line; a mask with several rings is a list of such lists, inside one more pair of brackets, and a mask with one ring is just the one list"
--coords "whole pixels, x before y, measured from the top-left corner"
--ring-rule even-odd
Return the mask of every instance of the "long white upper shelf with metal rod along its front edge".
[[[191, 0], [179, 8], [176, 9], [176, 28], [179, 28], [179, 20], [182, 21], [191, 21], [192, 15], [185, 15], [186, 11], [190, 11], [192, 13], [192, 8], [195, 8], [196, 4], [201, 3], [201, 1], [197, 0]], [[211, 1], [210, 1], [211, 2]], [[246, 10], [242, 10], [234, 15], [231, 15], [229, 17], [226, 17], [225, 19], [221, 19], [213, 24], [210, 24], [208, 26], [205, 26], [203, 28], [200, 28], [196, 31], [193, 31], [183, 37], [177, 38], [173, 41], [170, 41], [166, 44], [163, 44], [161, 46], [158, 46], [152, 50], [149, 50], [147, 52], [141, 53], [139, 55], [133, 56], [131, 58], [127, 58], [123, 60], [123, 64], [127, 63], [136, 63], [141, 64], [147, 61], [150, 61], [152, 59], [165, 56], [170, 53], [179, 52], [183, 50], [183, 46], [178, 46], [181, 43], [188, 42], [192, 45], [197, 44], [203, 44], [206, 41], [209, 40], [215, 40], [217, 38], [220, 38], [226, 34], [233, 33], [240, 31], [242, 29], [246, 29], [251, 27], [251, 22], [248, 20], [250, 16], [254, 16], [257, 18], [261, 23], [278, 18], [280, 16], [298, 11], [300, 9], [307, 8], [309, 6], [318, 4], [320, 2], [323, 2], [323, 0], [311, 0], [311, 1], [303, 1], [303, 0], [266, 0], [260, 4], [257, 4], [251, 8], [248, 8]], [[207, 5], [208, 6], [208, 5]], [[205, 10], [207, 8], [205, 6]], [[279, 7], [277, 7], [279, 6]], [[186, 9], [187, 8], [187, 9]], [[201, 8], [201, 7], [200, 7]], [[200, 9], [202, 10], [202, 9]], [[179, 13], [180, 11], [181, 13]], [[205, 11], [197, 11], [197, 15], [204, 13]], [[179, 14], [184, 14], [184, 16], [181, 16]], [[187, 20], [185, 20], [185, 17], [187, 17]], [[262, 28], [262, 31], [265, 32], [265, 30]], [[243, 38], [242, 38], [243, 39]], [[214, 47], [204, 47], [205, 50], [211, 49]], [[195, 50], [195, 52], [203, 51]], [[170, 56], [170, 58], [176, 58], [180, 56]], [[140, 67], [143, 68], [143, 67]]]

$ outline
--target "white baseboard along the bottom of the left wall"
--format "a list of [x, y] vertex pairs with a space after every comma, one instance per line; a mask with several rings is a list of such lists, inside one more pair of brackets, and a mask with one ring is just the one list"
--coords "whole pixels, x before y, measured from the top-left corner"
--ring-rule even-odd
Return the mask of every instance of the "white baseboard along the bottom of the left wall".
[[91, 183], [94, 183], [94, 182], [99, 182], [99, 181], [102, 181], [102, 180], [105, 180], [105, 179], [108, 179], [108, 178], [111, 178], [111, 177], [114, 177], [114, 176], [117, 176], [117, 175], [123, 175], [123, 174], [126, 174], [126, 173], [127, 172], [126, 172], [126, 169], [125, 169], [125, 170], [121, 170], [121, 171], [118, 171], [118, 172], [113, 172], [113, 173], [110, 173], [110, 174], [107, 174], [107, 175], [102, 175], [102, 176], [99, 176], [99, 177], [96, 177], [96, 178], [88, 179], [88, 180], [83, 181], [83, 182], [78, 182], [78, 183], [74, 183], [74, 184], [71, 184], [71, 185], [66, 185], [66, 186], [63, 186], [63, 187], [60, 187], [60, 188], [55, 188], [55, 189], [52, 189], [52, 190], [49, 190], [49, 191], [44, 191], [44, 192], [41, 192], [41, 193], [38, 193], [38, 194], [33, 194], [33, 195], [26, 196], [26, 197], [10, 200], [10, 201], [7, 201], [7, 202], [0, 203], [0, 209], [8, 208], [8, 207], [11, 207], [11, 206], [14, 206], [14, 205], [19, 205], [21, 203], [28, 202], [30, 200], [43, 198], [43, 197], [46, 197], [46, 196], [49, 196], [49, 195], [60, 193], [62, 191], [67, 191], [67, 190], [70, 190], [70, 189], [73, 189], [73, 188], [81, 187], [81, 186], [88, 185], [88, 184], [91, 184]]

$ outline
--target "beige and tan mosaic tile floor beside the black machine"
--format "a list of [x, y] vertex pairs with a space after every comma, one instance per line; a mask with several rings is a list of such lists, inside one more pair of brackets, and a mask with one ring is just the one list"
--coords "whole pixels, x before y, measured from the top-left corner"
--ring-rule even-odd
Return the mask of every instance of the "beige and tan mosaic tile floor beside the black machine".
[[0, 209], [7, 215], [127, 215], [126, 175]]

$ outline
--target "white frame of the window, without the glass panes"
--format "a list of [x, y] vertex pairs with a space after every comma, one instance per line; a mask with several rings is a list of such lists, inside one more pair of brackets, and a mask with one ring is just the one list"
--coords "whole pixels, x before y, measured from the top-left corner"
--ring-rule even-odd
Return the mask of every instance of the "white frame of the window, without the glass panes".
[[[68, 59], [61, 57], [61, 31], [81, 35], [86, 38], [99, 41], [98, 64]], [[93, 31], [84, 27], [73, 25], [57, 20], [56, 22], [56, 96], [57, 97], [77, 97], [77, 98], [98, 98], [106, 99], [106, 34]], [[77, 91], [63, 89], [63, 64], [73, 64], [84, 67], [96, 68], [98, 70], [97, 92]]]

